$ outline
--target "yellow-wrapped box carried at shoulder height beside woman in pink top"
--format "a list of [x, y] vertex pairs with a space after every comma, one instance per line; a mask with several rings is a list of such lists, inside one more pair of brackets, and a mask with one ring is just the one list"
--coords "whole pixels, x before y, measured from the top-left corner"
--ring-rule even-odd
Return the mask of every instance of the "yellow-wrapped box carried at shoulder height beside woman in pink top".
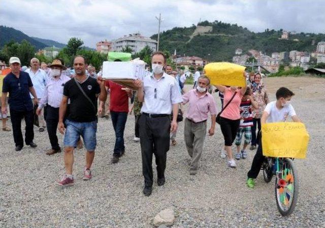
[[211, 84], [244, 87], [246, 67], [233, 63], [209, 63], [204, 67]]

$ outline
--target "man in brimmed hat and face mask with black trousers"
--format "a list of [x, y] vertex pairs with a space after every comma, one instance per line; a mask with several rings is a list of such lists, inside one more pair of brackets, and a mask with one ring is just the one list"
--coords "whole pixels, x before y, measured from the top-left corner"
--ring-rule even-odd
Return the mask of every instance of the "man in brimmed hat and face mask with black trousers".
[[50, 66], [51, 72], [48, 83], [45, 87], [44, 96], [42, 97], [39, 107], [36, 110], [37, 115], [41, 113], [42, 108], [47, 105], [46, 126], [49, 134], [51, 149], [47, 151], [47, 155], [53, 155], [61, 152], [56, 136], [56, 128], [59, 121], [59, 107], [63, 95], [64, 84], [70, 80], [70, 77], [62, 74], [66, 70], [66, 66], [60, 60], [54, 60]]

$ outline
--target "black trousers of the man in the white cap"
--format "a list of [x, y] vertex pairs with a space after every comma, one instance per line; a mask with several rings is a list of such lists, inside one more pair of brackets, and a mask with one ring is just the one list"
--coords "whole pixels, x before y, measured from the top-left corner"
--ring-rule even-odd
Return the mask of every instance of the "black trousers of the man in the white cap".
[[34, 119], [33, 119], [33, 109], [17, 111], [10, 109], [10, 118], [12, 123], [12, 131], [14, 134], [15, 145], [24, 146], [24, 139], [21, 132], [21, 120], [25, 120], [25, 143], [29, 145], [34, 139]]

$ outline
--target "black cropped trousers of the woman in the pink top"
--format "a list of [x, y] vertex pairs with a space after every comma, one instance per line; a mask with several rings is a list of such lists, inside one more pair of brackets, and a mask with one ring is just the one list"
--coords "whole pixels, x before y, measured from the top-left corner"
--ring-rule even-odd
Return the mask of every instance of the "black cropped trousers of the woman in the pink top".
[[220, 117], [220, 128], [224, 138], [225, 146], [232, 146], [236, 138], [240, 120], [230, 120]]

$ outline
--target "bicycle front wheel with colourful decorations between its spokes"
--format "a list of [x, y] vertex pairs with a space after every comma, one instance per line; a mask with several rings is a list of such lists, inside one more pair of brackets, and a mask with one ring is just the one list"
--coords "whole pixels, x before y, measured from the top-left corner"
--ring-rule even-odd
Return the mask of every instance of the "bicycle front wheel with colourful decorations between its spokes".
[[279, 159], [279, 170], [275, 180], [275, 198], [281, 215], [288, 216], [295, 210], [299, 180], [297, 169], [290, 158]]

